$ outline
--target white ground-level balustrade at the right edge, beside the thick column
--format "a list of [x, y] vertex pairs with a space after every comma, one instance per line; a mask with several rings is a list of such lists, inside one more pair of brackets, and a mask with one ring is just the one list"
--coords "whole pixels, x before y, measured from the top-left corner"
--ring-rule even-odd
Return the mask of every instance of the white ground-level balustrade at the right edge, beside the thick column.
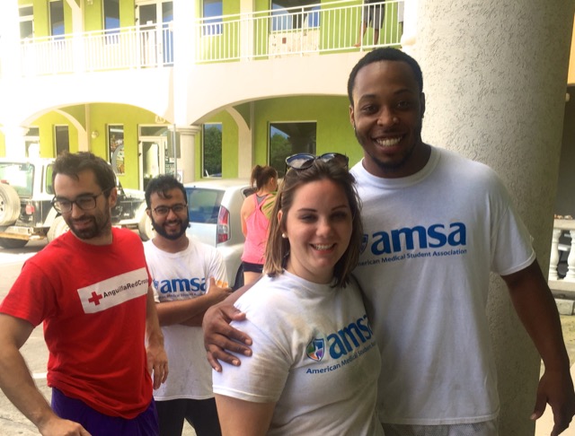
[[[559, 242], [565, 232], [571, 237], [571, 247]], [[565, 254], [568, 255], [567, 273], [561, 278], [558, 275], [557, 266], [560, 258]], [[554, 221], [551, 257], [549, 259], [549, 287], [553, 293], [575, 297], [575, 220], [556, 219]]]

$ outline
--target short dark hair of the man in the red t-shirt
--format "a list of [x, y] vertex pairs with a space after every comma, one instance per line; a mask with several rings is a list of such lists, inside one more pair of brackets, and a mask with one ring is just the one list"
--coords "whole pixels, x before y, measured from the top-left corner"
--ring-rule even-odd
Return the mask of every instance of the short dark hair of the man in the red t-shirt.
[[54, 186], [57, 174], [79, 180], [79, 174], [85, 170], [93, 172], [96, 183], [102, 189], [104, 196], [108, 198], [111, 188], [116, 187], [116, 175], [110, 163], [90, 152], [60, 153], [52, 168], [52, 186]]

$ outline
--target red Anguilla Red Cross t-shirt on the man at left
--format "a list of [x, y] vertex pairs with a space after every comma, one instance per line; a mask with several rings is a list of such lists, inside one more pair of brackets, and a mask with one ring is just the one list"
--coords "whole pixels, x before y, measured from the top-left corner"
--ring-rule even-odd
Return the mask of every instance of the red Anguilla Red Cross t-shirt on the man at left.
[[44, 322], [48, 385], [127, 419], [146, 410], [146, 294], [151, 283], [137, 234], [113, 229], [93, 246], [67, 232], [22, 267], [0, 312]]

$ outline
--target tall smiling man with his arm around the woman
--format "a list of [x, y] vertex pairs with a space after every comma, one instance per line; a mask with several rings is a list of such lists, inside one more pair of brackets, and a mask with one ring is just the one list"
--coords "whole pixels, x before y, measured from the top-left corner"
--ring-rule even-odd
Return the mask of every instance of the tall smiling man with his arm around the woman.
[[[422, 74], [402, 51], [369, 52], [351, 71], [348, 93], [364, 151], [351, 170], [366, 232], [354, 275], [382, 355], [377, 405], [385, 435], [498, 434], [485, 311], [490, 271], [507, 283], [544, 360], [532, 419], [551, 405], [558, 435], [575, 414], [569, 357], [553, 296], [509, 193], [485, 165], [423, 143]], [[222, 325], [221, 315], [241, 314], [220, 309], [204, 322], [216, 369], [217, 359], [239, 364], [217, 346], [250, 354], [217, 335], [250, 344]]]

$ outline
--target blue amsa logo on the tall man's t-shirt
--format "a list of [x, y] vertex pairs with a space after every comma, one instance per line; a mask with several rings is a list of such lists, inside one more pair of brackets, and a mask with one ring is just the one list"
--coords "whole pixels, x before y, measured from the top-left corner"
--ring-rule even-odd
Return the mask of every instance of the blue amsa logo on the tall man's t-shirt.
[[384, 254], [411, 251], [413, 249], [440, 249], [445, 246], [459, 247], [467, 244], [467, 231], [463, 222], [403, 227], [393, 231], [376, 231], [364, 235], [361, 251], [369, 248], [371, 253]]

